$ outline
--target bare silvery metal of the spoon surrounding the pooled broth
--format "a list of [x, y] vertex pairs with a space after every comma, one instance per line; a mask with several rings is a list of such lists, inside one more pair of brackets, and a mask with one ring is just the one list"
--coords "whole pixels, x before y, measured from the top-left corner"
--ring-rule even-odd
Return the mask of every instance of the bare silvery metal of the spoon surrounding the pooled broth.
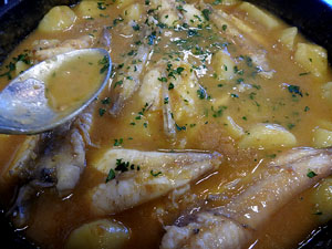
[[[92, 54], [100, 55], [103, 59], [103, 63], [96, 63], [104, 66], [100, 71], [101, 74], [103, 73], [103, 77], [101, 82], [96, 82], [97, 87], [89, 93], [86, 97], [80, 100], [75, 106], [54, 111], [49, 104], [48, 89], [44, 81], [50, 75], [54, 75], [64, 62], [73, 61], [75, 63], [75, 59]], [[91, 69], [102, 65], [92, 65]], [[111, 56], [103, 49], [75, 50], [32, 66], [11, 81], [0, 93], [0, 133], [37, 134], [52, 129], [73, 118], [95, 100], [105, 87], [111, 75]], [[80, 82], [73, 82], [73, 84], [80, 84]]]

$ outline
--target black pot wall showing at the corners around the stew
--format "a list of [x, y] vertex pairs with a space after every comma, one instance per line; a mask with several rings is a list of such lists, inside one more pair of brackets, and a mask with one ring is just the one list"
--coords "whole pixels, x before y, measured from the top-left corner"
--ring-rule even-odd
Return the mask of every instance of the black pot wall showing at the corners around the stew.
[[[324, 46], [332, 59], [332, 0], [248, 0], [268, 9], [290, 25], [299, 28], [309, 40]], [[54, 6], [74, 4], [77, 0], [7, 0], [0, 1], [0, 64], [7, 54], [37, 28], [42, 17]], [[329, 3], [330, 2], [330, 3]], [[2, 4], [2, 6], [1, 6]], [[309, 235], [301, 249], [332, 248], [332, 222]], [[0, 212], [0, 248], [35, 249], [20, 232], [15, 232]]]

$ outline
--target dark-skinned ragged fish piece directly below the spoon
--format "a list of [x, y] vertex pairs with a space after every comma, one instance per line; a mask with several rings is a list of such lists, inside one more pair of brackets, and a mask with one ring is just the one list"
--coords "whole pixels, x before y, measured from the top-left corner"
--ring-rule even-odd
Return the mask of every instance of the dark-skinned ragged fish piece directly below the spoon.
[[[30, 204], [43, 188], [54, 187], [60, 196], [69, 195], [80, 180], [85, 168], [85, 148], [90, 142], [89, 131], [92, 125], [92, 103], [75, 121], [58, 127], [48, 136], [42, 144], [46, 143], [43, 149], [32, 145], [39, 145], [35, 137], [28, 154], [23, 154], [17, 160], [12, 170], [20, 174], [25, 185], [19, 189], [18, 197], [8, 211], [18, 227], [27, 225], [30, 212]], [[29, 148], [29, 147], [28, 147]], [[30, 155], [32, 154], [33, 157]], [[29, 158], [32, 157], [32, 158]], [[18, 170], [19, 169], [19, 170]]]

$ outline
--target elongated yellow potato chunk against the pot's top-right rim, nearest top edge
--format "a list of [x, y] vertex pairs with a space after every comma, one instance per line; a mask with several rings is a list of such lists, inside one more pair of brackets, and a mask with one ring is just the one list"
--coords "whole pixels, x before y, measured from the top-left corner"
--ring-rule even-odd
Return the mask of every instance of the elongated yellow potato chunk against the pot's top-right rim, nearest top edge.
[[243, 10], [248, 13], [248, 17], [260, 24], [264, 25], [267, 29], [272, 30], [279, 27], [279, 22], [277, 21], [276, 18], [267, 14], [262, 10], [258, 9], [256, 6], [249, 3], [249, 2], [243, 2], [239, 7], [240, 10]]

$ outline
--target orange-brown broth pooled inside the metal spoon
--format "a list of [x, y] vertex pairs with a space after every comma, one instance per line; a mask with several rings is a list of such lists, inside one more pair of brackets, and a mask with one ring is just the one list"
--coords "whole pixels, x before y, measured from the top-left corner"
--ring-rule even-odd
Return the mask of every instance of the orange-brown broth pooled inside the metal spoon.
[[81, 106], [98, 89], [107, 70], [101, 71], [104, 55], [84, 54], [61, 63], [45, 80], [45, 96], [55, 112]]

